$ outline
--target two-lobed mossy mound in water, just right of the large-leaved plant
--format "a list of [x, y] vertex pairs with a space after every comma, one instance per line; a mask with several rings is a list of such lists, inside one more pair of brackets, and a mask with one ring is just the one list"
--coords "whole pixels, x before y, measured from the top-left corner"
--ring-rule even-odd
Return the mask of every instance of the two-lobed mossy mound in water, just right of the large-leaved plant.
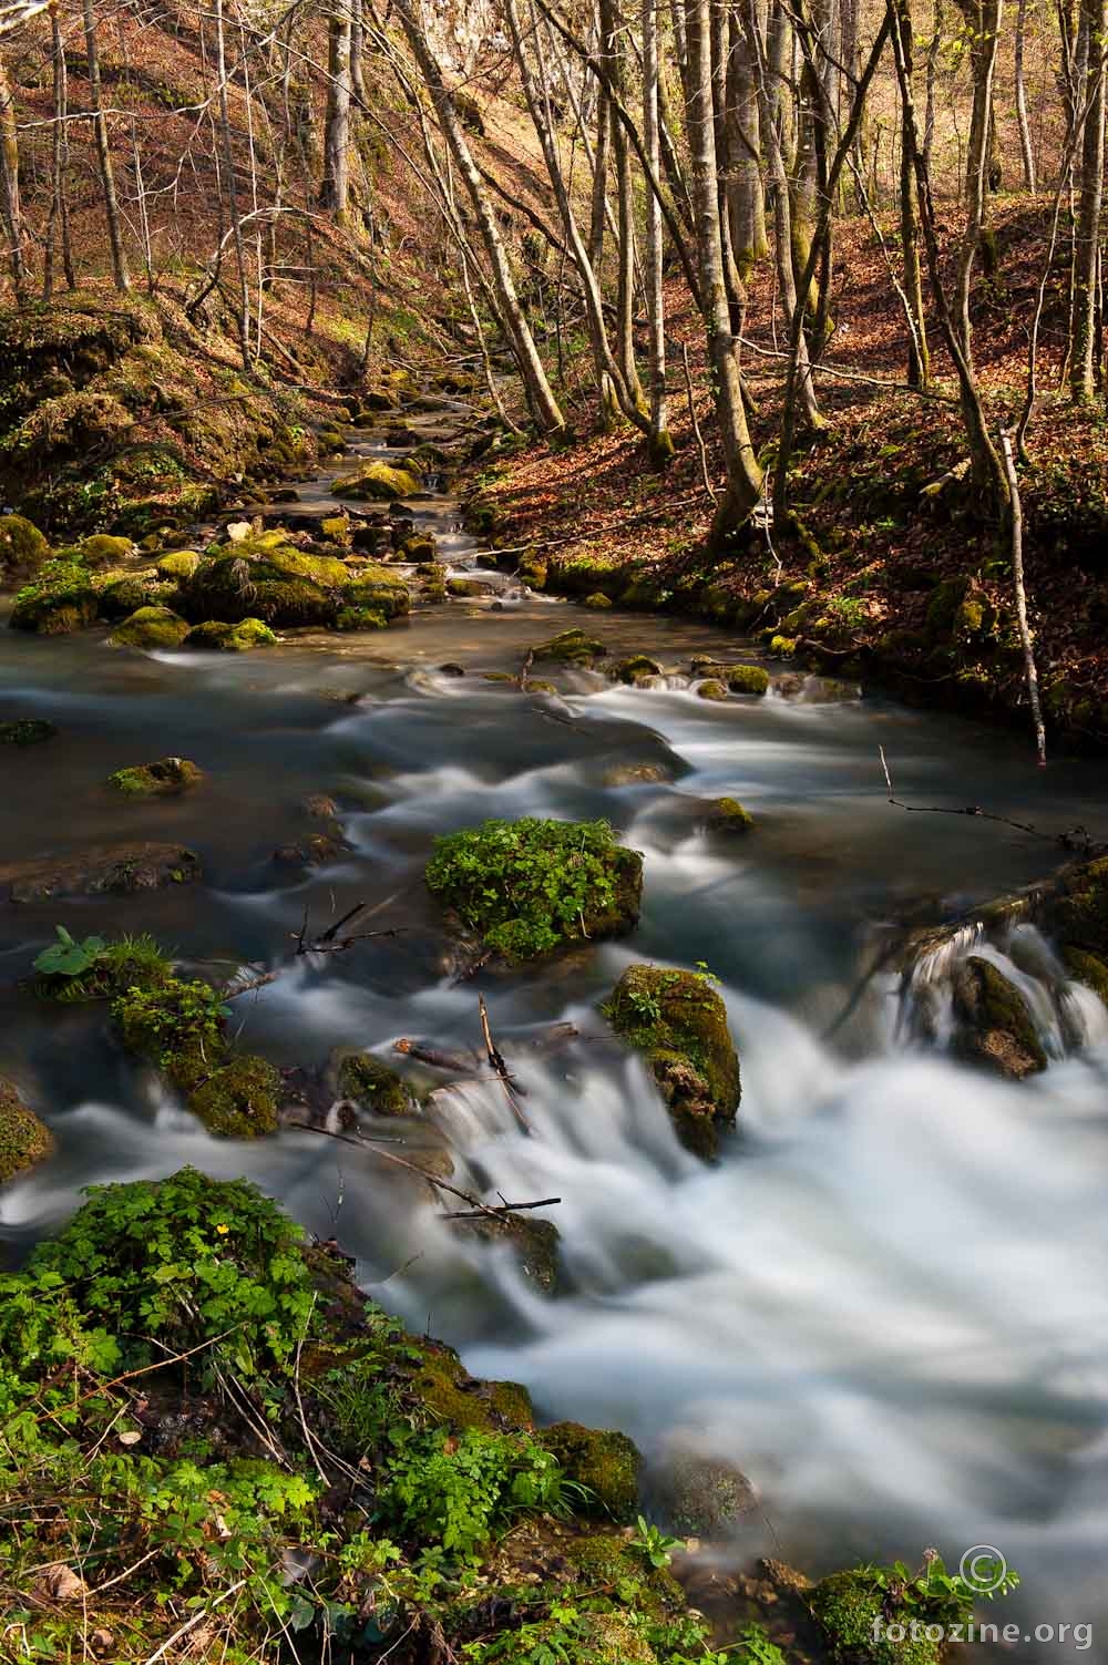
[[277, 1129], [282, 1077], [265, 1059], [233, 1054], [230, 1007], [207, 982], [160, 977], [118, 994], [112, 1017], [128, 1052], [157, 1064], [208, 1132], [252, 1139]]

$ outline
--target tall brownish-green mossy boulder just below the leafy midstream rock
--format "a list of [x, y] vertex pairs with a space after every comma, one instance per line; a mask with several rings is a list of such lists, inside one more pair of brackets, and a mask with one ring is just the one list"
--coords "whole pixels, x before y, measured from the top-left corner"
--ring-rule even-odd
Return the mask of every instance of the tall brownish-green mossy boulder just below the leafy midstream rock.
[[726, 1007], [708, 977], [628, 966], [601, 1011], [645, 1056], [681, 1144], [713, 1157], [718, 1129], [735, 1121], [741, 1082]]

